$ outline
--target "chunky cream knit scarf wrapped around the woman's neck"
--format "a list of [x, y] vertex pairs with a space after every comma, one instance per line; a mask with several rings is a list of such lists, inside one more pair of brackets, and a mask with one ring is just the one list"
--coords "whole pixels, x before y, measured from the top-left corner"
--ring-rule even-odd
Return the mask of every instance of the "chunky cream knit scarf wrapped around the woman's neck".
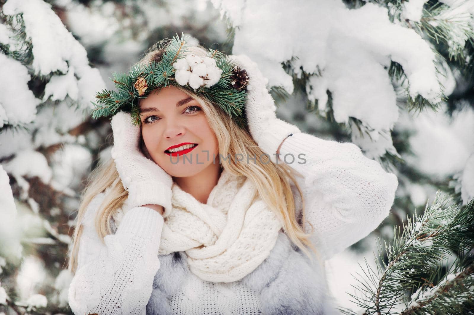
[[[267, 258], [282, 224], [245, 176], [222, 171], [208, 203], [176, 183], [158, 254], [184, 251], [191, 272], [211, 282], [245, 277]], [[252, 202], [253, 201], [253, 202]], [[114, 216], [116, 225], [121, 215]]]

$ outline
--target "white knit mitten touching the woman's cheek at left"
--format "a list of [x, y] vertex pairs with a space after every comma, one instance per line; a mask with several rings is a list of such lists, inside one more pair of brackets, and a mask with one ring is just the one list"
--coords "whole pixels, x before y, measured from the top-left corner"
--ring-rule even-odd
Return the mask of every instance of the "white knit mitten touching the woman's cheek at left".
[[110, 153], [128, 190], [128, 209], [157, 204], [164, 207], [163, 217], [167, 217], [171, 212], [171, 175], [140, 152], [140, 127], [133, 125], [130, 114], [115, 114], [111, 124], [114, 146]]

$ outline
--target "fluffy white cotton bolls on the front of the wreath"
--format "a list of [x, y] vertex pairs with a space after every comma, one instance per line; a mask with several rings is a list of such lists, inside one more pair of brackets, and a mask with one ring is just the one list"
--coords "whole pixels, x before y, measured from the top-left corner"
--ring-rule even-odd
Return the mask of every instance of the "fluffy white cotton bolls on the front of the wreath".
[[174, 73], [176, 82], [180, 85], [189, 84], [194, 89], [203, 85], [211, 87], [219, 82], [222, 75], [222, 70], [217, 67], [215, 59], [193, 54], [178, 59], [173, 63], [173, 68], [176, 69]]

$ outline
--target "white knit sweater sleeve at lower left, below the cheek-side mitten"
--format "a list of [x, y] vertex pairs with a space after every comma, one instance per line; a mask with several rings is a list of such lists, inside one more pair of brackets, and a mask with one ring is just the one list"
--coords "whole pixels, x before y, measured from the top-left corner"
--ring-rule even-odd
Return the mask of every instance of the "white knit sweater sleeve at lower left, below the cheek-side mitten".
[[76, 315], [146, 314], [153, 279], [160, 268], [163, 217], [150, 208], [134, 207], [123, 216], [117, 232], [105, 236], [104, 244], [94, 227], [103, 198], [104, 193], [94, 197], [82, 221], [69, 305]]

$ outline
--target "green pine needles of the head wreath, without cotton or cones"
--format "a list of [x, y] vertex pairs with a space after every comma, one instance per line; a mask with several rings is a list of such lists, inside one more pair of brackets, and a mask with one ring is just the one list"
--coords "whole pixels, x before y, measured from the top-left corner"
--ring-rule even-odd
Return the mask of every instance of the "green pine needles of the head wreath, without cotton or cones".
[[[181, 37], [176, 34], [167, 44], [161, 61], [136, 64], [128, 73], [112, 73], [110, 79], [114, 82], [117, 90], [104, 89], [96, 94], [97, 104], [92, 102], [95, 106], [91, 112], [92, 118], [108, 117], [123, 110], [131, 114], [134, 124], [141, 123], [138, 108], [139, 99], [145, 98], [150, 91], [158, 87], [180, 86], [174, 79], [173, 63], [185, 57], [183, 53], [188, 52], [187, 40], [188, 37], [185, 37], [183, 33]], [[207, 56], [213, 58], [216, 65], [222, 70], [219, 81], [212, 87], [201, 86], [193, 89], [189, 84], [184, 87], [191, 89], [198, 96], [208, 98], [210, 102], [218, 105], [225, 113], [233, 117], [239, 127], [245, 128], [246, 90], [235, 89], [230, 83], [235, 64], [224, 53], [214, 49], [209, 49]], [[147, 85], [143, 96], [139, 96], [135, 88], [135, 83], [139, 78], [144, 78]]]

